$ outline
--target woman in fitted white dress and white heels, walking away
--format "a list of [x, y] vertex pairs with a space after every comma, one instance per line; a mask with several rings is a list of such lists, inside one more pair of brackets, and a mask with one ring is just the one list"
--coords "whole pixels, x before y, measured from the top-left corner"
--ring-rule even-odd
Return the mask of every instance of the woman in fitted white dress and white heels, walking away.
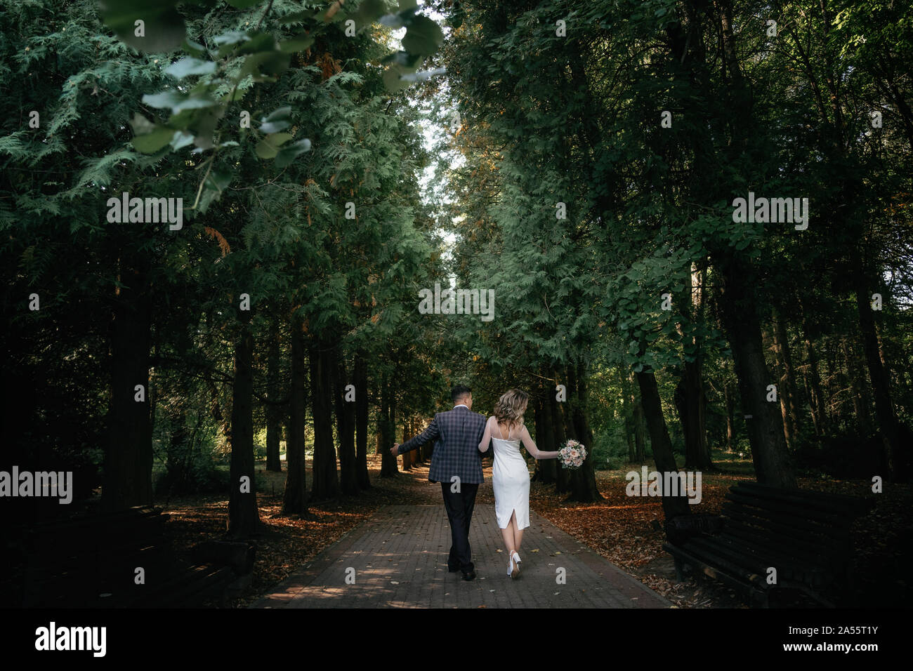
[[485, 435], [478, 449], [488, 451], [488, 442], [494, 446], [495, 465], [491, 480], [495, 490], [495, 515], [498, 528], [508, 551], [508, 575], [519, 576], [519, 544], [523, 529], [530, 526], [530, 468], [519, 451], [522, 442], [536, 459], [554, 459], [557, 452], [542, 452], [523, 425], [523, 413], [530, 397], [519, 389], [511, 389], [498, 399], [495, 414], [488, 417]]

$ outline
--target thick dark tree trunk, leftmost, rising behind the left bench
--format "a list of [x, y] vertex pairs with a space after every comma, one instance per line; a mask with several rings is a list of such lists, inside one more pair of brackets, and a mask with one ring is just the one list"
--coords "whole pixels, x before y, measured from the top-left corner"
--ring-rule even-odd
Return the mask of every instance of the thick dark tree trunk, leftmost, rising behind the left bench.
[[[149, 262], [121, 262], [110, 321], [110, 410], [102, 505], [108, 511], [152, 503]], [[143, 398], [137, 401], [137, 385]]]

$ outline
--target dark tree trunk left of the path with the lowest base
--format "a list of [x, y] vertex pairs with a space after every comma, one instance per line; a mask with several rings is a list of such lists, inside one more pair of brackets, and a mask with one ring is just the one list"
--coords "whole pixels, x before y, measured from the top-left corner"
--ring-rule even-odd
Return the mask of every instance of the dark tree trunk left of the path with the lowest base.
[[259, 530], [254, 473], [254, 336], [250, 311], [238, 310], [241, 333], [235, 345], [235, 384], [231, 404], [228, 538], [248, 539]]

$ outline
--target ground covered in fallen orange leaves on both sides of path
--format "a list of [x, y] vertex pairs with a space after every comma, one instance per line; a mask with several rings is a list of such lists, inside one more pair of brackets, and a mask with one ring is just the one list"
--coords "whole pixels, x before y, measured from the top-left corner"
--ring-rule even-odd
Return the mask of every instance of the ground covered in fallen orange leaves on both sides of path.
[[[662, 549], [665, 532], [660, 501], [627, 496], [624, 474], [628, 470], [625, 467], [598, 471], [596, 482], [603, 500], [595, 503], [568, 502], [566, 494], [555, 494], [554, 485], [533, 482], [530, 507], [679, 607], [744, 607], [740, 597], [719, 582], [698, 583], [693, 578], [676, 582], [672, 559]], [[257, 495], [263, 530], [257, 540], [254, 580], [237, 600], [237, 606], [253, 603], [383, 505], [441, 505], [440, 485], [428, 482], [427, 466], [415, 466], [409, 472], [400, 472], [398, 477], [382, 478], [380, 456], [372, 455], [369, 472], [371, 489], [358, 497], [311, 503], [307, 519], [281, 516], [285, 473], [263, 474], [270, 492], [276, 493]], [[485, 468], [485, 478], [478, 490], [477, 503], [491, 504], [494, 496], [490, 466]], [[310, 470], [308, 479], [310, 482]], [[692, 506], [692, 511], [719, 514], [729, 487], [744, 479], [753, 478], [708, 474], [703, 479], [701, 502]], [[802, 478], [800, 487], [853, 496], [871, 495], [865, 481]], [[892, 575], [899, 567], [903, 543], [898, 540], [898, 534], [913, 522], [910, 505], [913, 497], [908, 486], [891, 488], [882, 497], [873, 513], [858, 525], [856, 542], [857, 575], [873, 590], [879, 589], [879, 576], [886, 571]], [[159, 505], [172, 516], [169, 529], [179, 549], [186, 550], [200, 540], [217, 538], [225, 532], [226, 498], [173, 498]]]

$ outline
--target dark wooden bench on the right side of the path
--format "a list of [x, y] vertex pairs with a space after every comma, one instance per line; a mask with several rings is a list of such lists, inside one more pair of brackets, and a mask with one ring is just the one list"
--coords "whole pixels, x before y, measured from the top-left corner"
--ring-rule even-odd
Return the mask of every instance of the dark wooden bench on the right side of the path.
[[[740, 483], [729, 489], [722, 515], [673, 518], [663, 549], [676, 562], [747, 593], [752, 606], [770, 605], [771, 592], [799, 590], [827, 607], [852, 599], [856, 518], [874, 505], [866, 498]], [[696, 528], [690, 528], [696, 527]], [[769, 581], [769, 569], [776, 582]]]

